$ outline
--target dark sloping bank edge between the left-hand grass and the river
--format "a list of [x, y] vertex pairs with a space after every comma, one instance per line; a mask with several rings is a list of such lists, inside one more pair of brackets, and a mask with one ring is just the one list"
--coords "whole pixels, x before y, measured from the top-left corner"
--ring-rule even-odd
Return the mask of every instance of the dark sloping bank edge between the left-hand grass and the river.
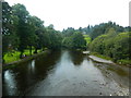
[[50, 50], [45, 50], [43, 52], [38, 52], [38, 53], [35, 53], [33, 56], [28, 56], [28, 57], [25, 57], [23, 59], [20, 59], [17, 61], [13, 61], [13, 62], [10, 62], [10, 63], [4, 63], [2, 66], [3, 66], [3, 70], [10, 68], [10, 66], [15, 66], [16, 64], [20, 64], [20, 63], [23, 63], [23, 62], [26, 62], [26, 61], [29, 61], [29, 60], [33, 60], [41, 54], [46, 54], [48, 53]]

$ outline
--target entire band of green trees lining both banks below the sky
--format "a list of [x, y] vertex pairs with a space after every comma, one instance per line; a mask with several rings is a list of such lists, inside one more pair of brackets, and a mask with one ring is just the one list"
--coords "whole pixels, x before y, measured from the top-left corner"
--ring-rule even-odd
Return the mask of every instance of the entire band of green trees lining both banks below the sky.
[[[23, 4], [10, 7], [2, 3], [2, 57], [12, 51], [20, 51], [22, 58], [26, 49], [32, 54], [37, 50], [87, 49], [92, 52], [111, 58], [115, 62], [130, 62], [131, 28], [122, 27], [114, 22], [99, 25], [87, 25], [74, 29], [68, 27], [62, 32], [53, 25], [44, 26], [44, 21], [32, 16]], [[4, 60], [3, 60], [4, 62]]]

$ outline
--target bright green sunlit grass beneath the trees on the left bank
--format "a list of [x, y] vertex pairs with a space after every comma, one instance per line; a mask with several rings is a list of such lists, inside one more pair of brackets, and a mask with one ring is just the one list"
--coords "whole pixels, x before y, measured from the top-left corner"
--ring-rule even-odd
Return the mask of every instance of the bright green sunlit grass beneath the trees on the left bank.
[[[35, 49], [32, 50], [32, 54], [34, 54], [33, 53], [34, 51], [35, 51]], [[41, 52], [41, 50], [37, 50], [37, 52]], [[20, 51], [8, 52], [3, 57], [4, 62], [5, 63], [11, 63], [11, 62], [14, 62], [14, 61], [19, 61], [20, 60], [20, 54], [21, 54]], [[29, 50], [28, 49], [24, 50], [23, 54], [29, 56]]]

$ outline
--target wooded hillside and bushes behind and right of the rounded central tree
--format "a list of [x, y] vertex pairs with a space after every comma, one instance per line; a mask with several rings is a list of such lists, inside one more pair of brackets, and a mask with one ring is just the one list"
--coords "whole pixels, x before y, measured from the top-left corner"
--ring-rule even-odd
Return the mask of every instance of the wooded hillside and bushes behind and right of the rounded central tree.
[[[71, 46], [71, 37], [75, 32], [83, 34], [88, 39], [86, 41], [86, 48], [90, 51], [109, 57], [115, 62], [121, 64], [131, 64], [130, 26], [122, 27], [116, 23], [108, 22], [95, 26], [88, 25], [85, 28], [80, 27], [79, 29], [69, 27], [62, 32], [64, 39], [67, 39], [67, 42], [63, 45]], [[82, 46], [84, 46], [84, 42]]]

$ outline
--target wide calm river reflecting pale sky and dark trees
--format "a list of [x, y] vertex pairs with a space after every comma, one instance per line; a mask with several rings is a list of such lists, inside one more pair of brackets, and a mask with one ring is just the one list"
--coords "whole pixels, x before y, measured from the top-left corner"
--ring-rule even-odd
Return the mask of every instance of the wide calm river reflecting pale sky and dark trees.
[[2, 72], [3, 96], [127, 96], [129, 68], [52, 51]]

